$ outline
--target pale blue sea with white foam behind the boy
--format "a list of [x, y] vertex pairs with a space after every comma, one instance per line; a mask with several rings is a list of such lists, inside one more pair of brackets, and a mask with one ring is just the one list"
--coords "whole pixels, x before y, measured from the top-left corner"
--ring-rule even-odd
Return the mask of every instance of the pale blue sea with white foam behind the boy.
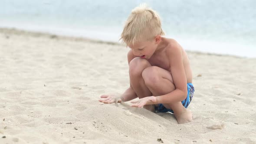
[[184, 49], [256, 57], [256, 0], [0, 0], [0, 27], [118, 42], [140, 3]]

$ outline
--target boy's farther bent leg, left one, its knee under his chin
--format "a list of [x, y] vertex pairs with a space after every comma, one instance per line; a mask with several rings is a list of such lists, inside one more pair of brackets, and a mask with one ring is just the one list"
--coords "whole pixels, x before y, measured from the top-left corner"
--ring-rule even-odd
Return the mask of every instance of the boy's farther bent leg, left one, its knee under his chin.
[[[142, 78], [143, 70], [150, 66], [150, 63], [146, 59], [141, 58], [134, 58], [129, 64], [130, 84], [138, 98], [152, 96], [152, 93], [145, 85], [144, 79]], [[154, 111], [153, 105], [145, 105], [143, 108]]]

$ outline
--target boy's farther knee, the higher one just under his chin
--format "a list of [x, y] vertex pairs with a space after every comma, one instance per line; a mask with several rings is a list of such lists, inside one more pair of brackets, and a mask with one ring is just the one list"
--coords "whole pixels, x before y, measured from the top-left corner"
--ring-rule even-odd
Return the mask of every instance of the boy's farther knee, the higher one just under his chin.
[[141, 75], [143, 70], [149, 66], [151, 65], [146, 59], [136, 57], [129, 64], [129, 74], [133, 76]]

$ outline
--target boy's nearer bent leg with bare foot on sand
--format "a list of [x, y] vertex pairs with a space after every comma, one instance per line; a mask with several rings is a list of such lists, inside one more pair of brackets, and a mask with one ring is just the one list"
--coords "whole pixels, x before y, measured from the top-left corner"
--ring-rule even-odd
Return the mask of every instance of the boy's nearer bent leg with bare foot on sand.
[[[154, 96], [165, 95], [175, 89], [171, 72], [157, 66], [151, 66], [144, 69], [142, 77], [145, 85]], [[192, 121], [191, 112], [184, 108], [181, 102], [164, 104], [164, 107], [174, 111], [174, 115], [179, 124]]]

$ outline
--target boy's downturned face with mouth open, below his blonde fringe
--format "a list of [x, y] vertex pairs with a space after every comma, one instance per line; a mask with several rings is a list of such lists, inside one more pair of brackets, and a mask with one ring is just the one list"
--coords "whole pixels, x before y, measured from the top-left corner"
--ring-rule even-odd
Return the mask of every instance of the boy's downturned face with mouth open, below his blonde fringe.
[[143, 59], [149, 59], [155, 52], [158, 44], [155, 40], [148, 42], [137, 42], [134, 45], [128, 45], [133, 51], [135, 56], [141, 57]]

